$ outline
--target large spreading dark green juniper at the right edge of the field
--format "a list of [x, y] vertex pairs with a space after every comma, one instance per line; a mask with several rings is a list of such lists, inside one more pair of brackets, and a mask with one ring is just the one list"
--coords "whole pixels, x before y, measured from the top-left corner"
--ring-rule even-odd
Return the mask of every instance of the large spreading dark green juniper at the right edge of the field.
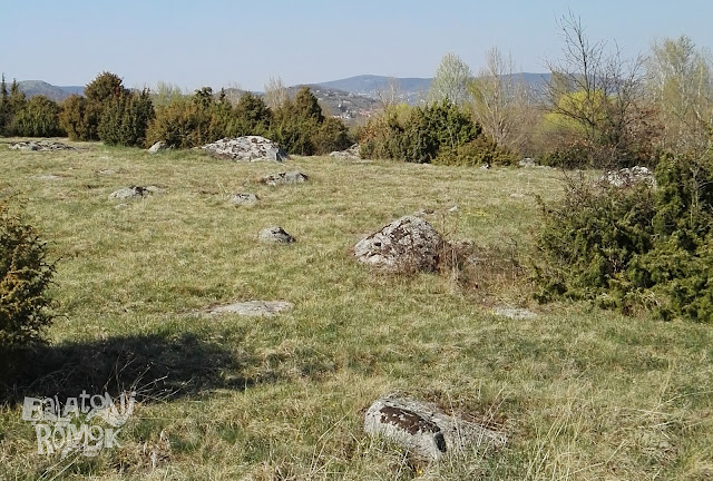
[[655, 176], [657, 188], [569, 179], [561, 202], [540, 202], [540, 302], [589, 300], [664, 320], [713, 320], [713, 158], [666, 155]]

